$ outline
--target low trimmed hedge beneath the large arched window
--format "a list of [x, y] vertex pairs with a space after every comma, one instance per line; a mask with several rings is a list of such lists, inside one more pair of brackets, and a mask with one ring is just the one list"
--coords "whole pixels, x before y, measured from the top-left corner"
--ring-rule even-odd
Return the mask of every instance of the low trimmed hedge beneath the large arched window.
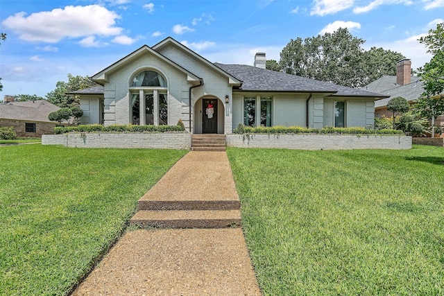
[[[184, 129], [185, 130], [185, 129]], [[78, 125], [54, 128], [55, 134], [65, 134], [67, 132], [182, 132], [182, 127], [178, 125]]]

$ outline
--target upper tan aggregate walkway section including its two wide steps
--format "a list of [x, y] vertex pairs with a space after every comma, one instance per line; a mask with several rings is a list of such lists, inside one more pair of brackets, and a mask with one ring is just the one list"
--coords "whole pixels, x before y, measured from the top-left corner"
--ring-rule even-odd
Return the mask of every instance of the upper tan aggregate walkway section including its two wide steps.
[[226, 153], [190, 151], [139, 199], [130, 224], [157, 228], [239, 227], [240, 207]]

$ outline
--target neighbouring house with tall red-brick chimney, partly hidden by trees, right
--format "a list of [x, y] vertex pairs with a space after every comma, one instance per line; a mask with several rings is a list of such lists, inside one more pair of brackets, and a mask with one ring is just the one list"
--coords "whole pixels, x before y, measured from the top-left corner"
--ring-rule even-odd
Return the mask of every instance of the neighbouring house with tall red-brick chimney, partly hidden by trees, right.
[[[411, 76], [411, 60], [404, 59], [396, 63], [396, 76], [382, 76], [369, 85], [362, 87], [368, 92], [385, 94], [388, 98], [375, 101], [375, 116], [380, 118], [386, 116], [390, 118], [393, 112], [387, 110], [388, 101], [397, 96], [407, 99], [413, 105], [422, 96], [424, 87], [416, 76]], [[444, 115], [438, 116], [436, 125], [444, 125]], [[444, 137], [444, 135], [443, 135]]]

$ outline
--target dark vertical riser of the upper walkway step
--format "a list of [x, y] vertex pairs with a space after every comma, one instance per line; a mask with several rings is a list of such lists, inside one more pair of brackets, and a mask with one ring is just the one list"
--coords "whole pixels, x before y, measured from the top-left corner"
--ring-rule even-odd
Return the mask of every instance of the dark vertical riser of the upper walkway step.
[[139, 211], [154, 210], [232, 210], [240, 209], [239, 200], [143, 200], [138, 202]]

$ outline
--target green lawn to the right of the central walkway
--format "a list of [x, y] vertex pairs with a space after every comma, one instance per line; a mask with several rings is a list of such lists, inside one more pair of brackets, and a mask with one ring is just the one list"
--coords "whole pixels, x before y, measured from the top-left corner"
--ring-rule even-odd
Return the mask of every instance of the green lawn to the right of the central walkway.
[[264, 295], [443, 295], [444, 148], [228, 148]]

